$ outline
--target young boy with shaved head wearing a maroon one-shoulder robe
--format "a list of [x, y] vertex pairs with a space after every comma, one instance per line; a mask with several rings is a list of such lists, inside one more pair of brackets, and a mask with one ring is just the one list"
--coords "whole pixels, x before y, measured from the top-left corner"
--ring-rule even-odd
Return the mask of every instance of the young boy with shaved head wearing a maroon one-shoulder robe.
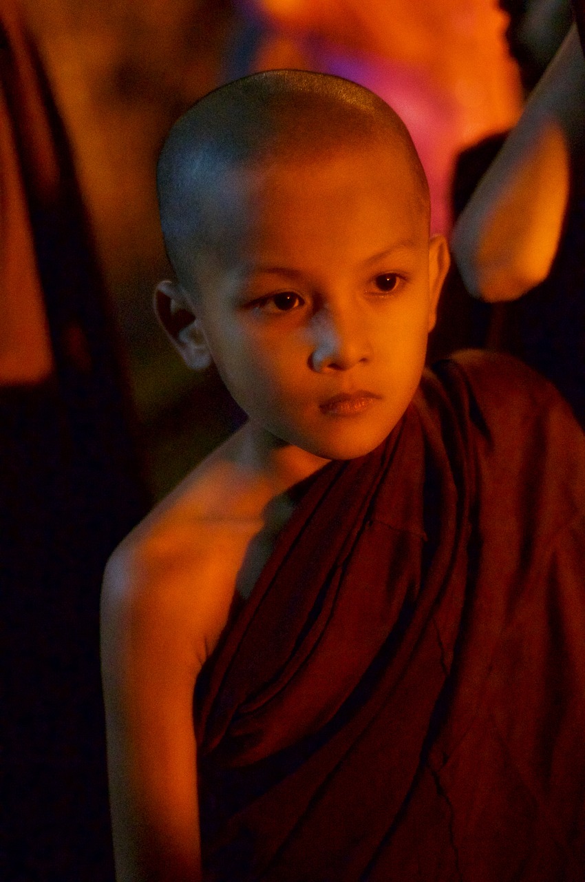
[[585, 441], [511, 358], [423, 371], [448, 251], [404, 125], [257, 74], [159, 200], [160, 321], [248, 422], [107, 566], [118, 879], [582, 880]]

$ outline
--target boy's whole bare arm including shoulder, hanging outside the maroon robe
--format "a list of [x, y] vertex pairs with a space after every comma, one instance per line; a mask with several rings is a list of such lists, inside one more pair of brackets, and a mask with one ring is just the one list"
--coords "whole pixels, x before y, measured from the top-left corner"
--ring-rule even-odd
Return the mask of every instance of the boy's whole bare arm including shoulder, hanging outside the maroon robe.
[[107, 564], [101, 662], [118, 882], [201, 878], [193, 694], [236, 582], [244, 572], [242, 584], [255, 581], [250, 544], [271, 498], [233, 467], [233, 438]]

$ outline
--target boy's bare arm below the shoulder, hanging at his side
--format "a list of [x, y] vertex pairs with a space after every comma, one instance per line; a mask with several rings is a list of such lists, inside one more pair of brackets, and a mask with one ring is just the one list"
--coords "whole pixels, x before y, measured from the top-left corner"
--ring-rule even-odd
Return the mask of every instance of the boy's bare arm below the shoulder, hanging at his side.
[[[200, 878], [193, 689], [201, 667], [181, 569], [116, 553], [101, 603], [107, 764], [119, 882]], [[183, 577], [184, 578], [184, 577]]]

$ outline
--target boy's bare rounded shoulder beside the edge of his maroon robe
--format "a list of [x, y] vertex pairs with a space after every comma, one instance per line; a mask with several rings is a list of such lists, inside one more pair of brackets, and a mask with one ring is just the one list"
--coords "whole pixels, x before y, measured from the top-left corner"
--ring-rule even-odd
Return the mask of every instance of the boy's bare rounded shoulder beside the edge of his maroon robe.
[[263, 527], [230, 439], [115, 549], [104, 575], [102, 648], [125, 639], [173, 643], [200, 669], [225, 627], [249, 543]]

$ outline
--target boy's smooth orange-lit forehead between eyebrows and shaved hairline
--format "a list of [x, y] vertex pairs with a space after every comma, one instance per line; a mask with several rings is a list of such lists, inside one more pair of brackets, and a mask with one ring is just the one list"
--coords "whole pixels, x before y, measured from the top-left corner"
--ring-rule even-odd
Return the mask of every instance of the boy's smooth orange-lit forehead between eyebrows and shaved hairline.
[[[428, 240], [418, 178], [404, 150], [339, 148], [310, 160], [273, 159], [226, 170], [212, 205], [230, 253], [375, 249], [393, 239]], [[386, 246], [388, 247], [388, 245]]]

